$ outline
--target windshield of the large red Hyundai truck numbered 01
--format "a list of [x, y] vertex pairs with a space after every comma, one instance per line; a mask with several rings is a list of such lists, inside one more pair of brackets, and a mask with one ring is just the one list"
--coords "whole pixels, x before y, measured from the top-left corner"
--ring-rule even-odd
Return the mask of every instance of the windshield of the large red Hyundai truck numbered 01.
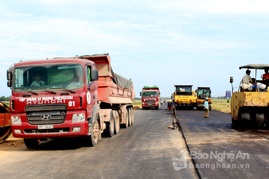
[[45, 89], [78, 89], [83, 86], [83, 67], [80, 64], [21, 66], [14, 70], [14, 91]]

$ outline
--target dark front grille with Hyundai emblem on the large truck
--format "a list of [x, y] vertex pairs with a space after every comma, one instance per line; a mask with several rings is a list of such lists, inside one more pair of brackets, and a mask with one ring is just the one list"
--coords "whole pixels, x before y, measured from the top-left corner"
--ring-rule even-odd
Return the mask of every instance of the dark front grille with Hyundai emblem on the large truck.
[[[29, 124], [60, 124], [66, 119], [67, 105], [30, 105], [25, 107], [25, 111]], [[44, 115], [49, 116], [49, 119], [42, 119]]]

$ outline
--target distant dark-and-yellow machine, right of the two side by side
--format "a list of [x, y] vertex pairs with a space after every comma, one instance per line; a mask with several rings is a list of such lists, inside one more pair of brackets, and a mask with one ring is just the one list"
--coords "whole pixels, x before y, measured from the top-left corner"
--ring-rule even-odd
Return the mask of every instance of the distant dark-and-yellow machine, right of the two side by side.
[[209, 98], [208, 105], [209, 105], [209, 110], [211, 110], [212, 100], [211, 100], [210, 87], [197, 87], [196, 93], [197, 93], [197, 99], [196, 99], [197, 110], [203, 109], [203, 103], [206, 98]]

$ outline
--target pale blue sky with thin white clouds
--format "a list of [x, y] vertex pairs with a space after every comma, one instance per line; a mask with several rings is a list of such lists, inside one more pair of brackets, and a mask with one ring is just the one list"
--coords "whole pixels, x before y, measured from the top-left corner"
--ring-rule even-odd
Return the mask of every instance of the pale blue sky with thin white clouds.
[[6, 70], [20, 60], [108, 53], [138, 98], [143, 86], [169, 97], [180, 84], [224, 96], [230, 76], [238, 88], [246, 74], [239, 66], [269, 64], [268, 0], [0, 0], [0, 7], [0, 96], [11, 95]]

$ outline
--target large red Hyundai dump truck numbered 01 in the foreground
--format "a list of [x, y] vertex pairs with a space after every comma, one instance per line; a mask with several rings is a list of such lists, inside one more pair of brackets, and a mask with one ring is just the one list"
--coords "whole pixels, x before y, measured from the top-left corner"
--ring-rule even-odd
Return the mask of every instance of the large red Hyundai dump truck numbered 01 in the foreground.
[[65, 137], [94, 146], [134, 123], [133, 82], [112, 71], [108, 54], [21, 61], [7, 80], [12, 134], [28, 148]]

